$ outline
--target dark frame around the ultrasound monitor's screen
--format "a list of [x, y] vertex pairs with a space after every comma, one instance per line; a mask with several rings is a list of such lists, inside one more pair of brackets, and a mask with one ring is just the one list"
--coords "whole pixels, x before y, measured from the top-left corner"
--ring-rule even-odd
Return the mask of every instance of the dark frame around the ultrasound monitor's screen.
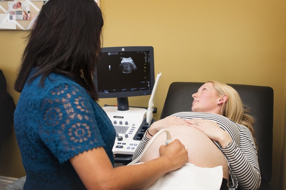
[[[151, 89], [142, 91], [129, 91], [129, 92], [113, 92], [113, 93], [100, 93], [98, 98], [124, 98], [132, 96], [151, 95], [155, 83], [155, 69], [154, 69], [154, 48], [152, 46], [124, 46], [124, 47], [102, 47], [101, 53], [108, 52], [130, 52], [130, 51], [149, 51], [150, 54], [150, 81]], [[94, 85], [98, 93], [97, 83], [97, 69], [94, 72]]]

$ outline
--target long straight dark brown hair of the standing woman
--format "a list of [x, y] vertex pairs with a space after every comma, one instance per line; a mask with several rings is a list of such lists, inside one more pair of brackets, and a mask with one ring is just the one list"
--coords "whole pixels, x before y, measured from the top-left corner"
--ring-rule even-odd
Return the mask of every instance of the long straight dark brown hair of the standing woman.
[[49, 0], [26, 37], [15, 90], [23, 90], [35, 67], [37, 70], [29, 81], [42, 75], [40, 83], [44, 85], [51, 72], [63, 74], [98, 100], [92, 73], [100, 52], [102, 26], [102, 12], [94, 0]]

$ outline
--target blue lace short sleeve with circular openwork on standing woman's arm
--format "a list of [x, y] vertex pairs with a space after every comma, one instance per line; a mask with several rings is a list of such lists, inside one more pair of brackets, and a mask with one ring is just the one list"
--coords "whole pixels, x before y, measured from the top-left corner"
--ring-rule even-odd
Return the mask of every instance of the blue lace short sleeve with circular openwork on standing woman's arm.
[[39, 135], [62, 163], [71, 157], [105, 146], [92, 109], [93, 101], [75, 84], [53, 86], [41, 101]]

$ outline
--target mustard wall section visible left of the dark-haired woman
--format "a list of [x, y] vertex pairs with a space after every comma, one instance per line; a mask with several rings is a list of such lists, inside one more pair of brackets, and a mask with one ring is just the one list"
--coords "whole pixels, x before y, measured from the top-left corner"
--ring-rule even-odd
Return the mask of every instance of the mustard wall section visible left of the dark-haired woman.
[[[0, 30], [0, 69], [5, 75], [7, 90], [13, 96], [15, 103], [20, 94], [13, 90], [13, 83], [25, 47], [22, 38], [26, 34], [25, 31]], [[19, 147], [13, 133], [10, 138], [0, 145], [0, 176], [20, 178], [24, 175], [25, 171]]]

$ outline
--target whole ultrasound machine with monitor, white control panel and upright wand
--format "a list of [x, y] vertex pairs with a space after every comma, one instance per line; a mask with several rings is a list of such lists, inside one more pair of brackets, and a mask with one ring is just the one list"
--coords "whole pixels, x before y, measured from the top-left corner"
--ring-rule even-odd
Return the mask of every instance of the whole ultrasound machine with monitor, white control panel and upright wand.
[[[94, 83], [98, 98], [117, 98], [117, 106], [103, 109], [116, 130], [115, 163], [130, 163], [152, 119], [154, 94], [161, 73], [154, 76], [154, 50], [149, 46], [102, 47]], [[129, 106], [128, 97], [151, 95], [148, 107]]]

